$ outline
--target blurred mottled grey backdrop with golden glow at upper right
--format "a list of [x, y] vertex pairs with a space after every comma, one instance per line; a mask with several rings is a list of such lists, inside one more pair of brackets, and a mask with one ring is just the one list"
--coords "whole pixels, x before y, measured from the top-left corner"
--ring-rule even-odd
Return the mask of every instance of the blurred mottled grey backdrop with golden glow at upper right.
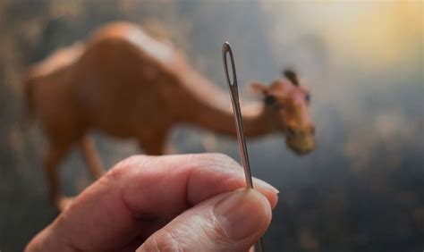
[[[22, 78], [62, 46], [109, 21], [132, 21], [186, 52], [225, 89], [221, 46], [233, 45], [239, 85], [285, 66], [311, 90], [318, 148], [296, 156], [281, 135], [248, 143], [253, 174], [280, 189], [267, 251], [421, 251], [424, 248], [423, 2], [0, 1], [0, 250], [19, 251], [56, 216], [40, 163], [46, 145], [22, 122]], [[106, 167], [135, 141], [93, 132]], [[235, 139], [190, 126], [178, 153], [238, 158]], [[79, 152], [60, 167], [66, 194], [90, 177]]]

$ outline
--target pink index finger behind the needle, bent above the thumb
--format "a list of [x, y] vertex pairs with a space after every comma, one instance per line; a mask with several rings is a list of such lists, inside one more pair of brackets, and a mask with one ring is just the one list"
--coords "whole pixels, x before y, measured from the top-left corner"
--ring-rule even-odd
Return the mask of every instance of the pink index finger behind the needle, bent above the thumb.
[[[276, 189], [259, 180], [255, 186], [274, 207]], [[137, 155], [83, 191], [52, 228], [73, 248], [120, 248], [191, 206], [242, 187], [242, 167], [225, 155]]]

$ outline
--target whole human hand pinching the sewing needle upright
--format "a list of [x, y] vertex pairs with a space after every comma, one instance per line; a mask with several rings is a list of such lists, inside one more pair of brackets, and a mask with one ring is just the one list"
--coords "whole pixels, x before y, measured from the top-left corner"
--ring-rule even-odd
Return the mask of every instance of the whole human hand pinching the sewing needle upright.
[[[85, 189], [26, 251], [247, 251], [278, 191], [226, 155], [137, 155]], [[265, 197], [264, 197], [265, 196]]]

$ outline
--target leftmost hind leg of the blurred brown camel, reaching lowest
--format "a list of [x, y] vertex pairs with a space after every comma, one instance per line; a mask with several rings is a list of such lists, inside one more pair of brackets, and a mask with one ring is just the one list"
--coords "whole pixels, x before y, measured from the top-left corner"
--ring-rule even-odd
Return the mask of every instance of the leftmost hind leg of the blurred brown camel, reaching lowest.
[[58, 166], [64, 159], [70, 145], [51, 145], [44, 157], [47, 188], [51, 202], [57, 209], [64, 209], [66, 199], [62, 197], [59, 181]]

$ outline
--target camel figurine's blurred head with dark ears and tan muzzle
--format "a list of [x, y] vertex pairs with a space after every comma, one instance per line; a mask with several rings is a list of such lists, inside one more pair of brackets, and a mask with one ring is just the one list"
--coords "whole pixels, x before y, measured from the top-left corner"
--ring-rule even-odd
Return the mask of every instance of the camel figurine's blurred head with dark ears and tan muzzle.
[[265, 102], [266, 116], [277, 130], [285, 134], [285, 143], [298, 155], [305, 155], [315, 148], [315, 128], [310, 118], [310, 92], [301, 86], [297, 74], [283, 71], [284, 79], [275, 80], [270, 86], [255, 82], [251, 87], [259, 91]]

